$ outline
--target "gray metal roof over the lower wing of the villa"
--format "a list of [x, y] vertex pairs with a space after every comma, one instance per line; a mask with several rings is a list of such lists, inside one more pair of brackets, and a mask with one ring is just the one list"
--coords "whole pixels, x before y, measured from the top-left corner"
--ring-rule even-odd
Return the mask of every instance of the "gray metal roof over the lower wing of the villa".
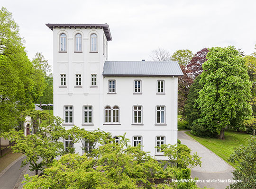
[[105, 61], [103, 76], [183, 76], [175, 61]]

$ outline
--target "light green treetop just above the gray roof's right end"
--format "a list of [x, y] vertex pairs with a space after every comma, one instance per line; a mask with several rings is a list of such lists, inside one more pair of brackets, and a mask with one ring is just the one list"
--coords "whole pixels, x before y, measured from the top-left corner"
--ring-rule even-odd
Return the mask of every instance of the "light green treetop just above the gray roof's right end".
[[171, 60], [177, 61], [180, 65], [186, 66], [193, 58], [193, 52], [188, 49], [177, 50], [171, 57]]

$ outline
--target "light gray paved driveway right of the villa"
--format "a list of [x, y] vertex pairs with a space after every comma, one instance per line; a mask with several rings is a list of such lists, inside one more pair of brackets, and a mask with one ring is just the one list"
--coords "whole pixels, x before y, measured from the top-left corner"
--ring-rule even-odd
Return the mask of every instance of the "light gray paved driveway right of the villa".
[[[192, 149], [192, 153], [197, 152], [201, 157], [201, 167], [197, 166], [191, 169], [192, 178], [197, 177], [202, 181], [198, 182], [199, 187], [202, 188], [206, 186], [207, 188], [213, 189], [225, 189], [229, 186], [230, 182], [228, 182], [228, 180], [232, 180], [233, 167], [192, 137], [186, 135], [183, 131], [178, 131], [178, 138], [181, 140], [182, 144]], [[210, 182], [208, 182], [209, 180]], [[217, 180], [217, 182], [212, 182], [212, 180]]]

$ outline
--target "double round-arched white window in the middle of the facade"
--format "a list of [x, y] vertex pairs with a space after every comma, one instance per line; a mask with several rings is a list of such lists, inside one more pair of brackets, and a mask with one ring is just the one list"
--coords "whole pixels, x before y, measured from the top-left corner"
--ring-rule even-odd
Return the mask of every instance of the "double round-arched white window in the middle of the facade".
[[120, 123], [120, 108], [118, 105], [104, 107], [104, 123], [119, 124]]

